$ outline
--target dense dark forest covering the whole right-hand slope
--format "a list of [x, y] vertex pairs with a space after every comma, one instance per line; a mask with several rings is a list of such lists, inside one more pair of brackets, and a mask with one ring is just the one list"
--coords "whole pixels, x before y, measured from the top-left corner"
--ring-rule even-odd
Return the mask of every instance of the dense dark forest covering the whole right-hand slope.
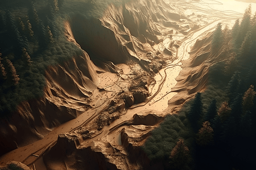
[[[179, 115], [167, 116], [143, 146], [152, 166], [160, 159], [162, 164], [158, 165], [163, 169], [255, 167], [256, 13], [251, 16], [251, 6], [231, 30], [222, 29], [221, 23], [217, 25], [211, 55], [221, 57], [222, 62], [210, 68], [207, 90], [185, 103]], [[177, 126], [170, 117], [176, 117], [184, 126]], [[170, 142], [174, 136], [165, 134], [163, 127], [168, 131], [178, 127], [187, 130], [189, 140], [179, 134]], [[166, 145], [158, 145], [156, 138]], [[176, 152], [179, 156], [175, 157]]]

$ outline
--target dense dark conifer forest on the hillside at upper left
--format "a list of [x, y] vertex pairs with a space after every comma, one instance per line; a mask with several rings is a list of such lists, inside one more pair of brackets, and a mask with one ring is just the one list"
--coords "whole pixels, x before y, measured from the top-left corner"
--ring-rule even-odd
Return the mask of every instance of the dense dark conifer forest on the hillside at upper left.
[[63, 5], [63, 0], [1, 1], [0, 117], [11, 116], [20, 102], [43, 95], [49, 65], [81, 54], [65, 40]]

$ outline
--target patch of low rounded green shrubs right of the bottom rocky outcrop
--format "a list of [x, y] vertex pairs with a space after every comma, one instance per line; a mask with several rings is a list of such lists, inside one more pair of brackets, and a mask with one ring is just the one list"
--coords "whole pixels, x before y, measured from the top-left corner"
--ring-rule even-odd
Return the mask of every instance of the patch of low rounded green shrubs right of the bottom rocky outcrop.
[[[183, 121], [181, 121], [183, 120]], [[184, 139], [184, 144], [191, 147], [193, 143], [193, 133], [184, 125], [186, 122], [184, 114], [167, 115], [162, 124], [152, 131], [152, 135], [144, 144], [143, 151], [153, 162], [168, 162], [172, 149], [176, 142]]]

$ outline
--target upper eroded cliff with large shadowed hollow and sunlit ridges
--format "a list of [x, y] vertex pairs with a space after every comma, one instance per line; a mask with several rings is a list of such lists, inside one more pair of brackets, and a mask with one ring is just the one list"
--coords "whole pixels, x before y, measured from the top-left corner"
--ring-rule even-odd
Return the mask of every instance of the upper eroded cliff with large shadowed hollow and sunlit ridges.
[[71, 18], [71, 28], [76, 41], [95, 63], [133, 60], [144, 66], [152, 62], [148, 53], [164, 58], [172, 56], [171, 52], [163, 53], [164, 49], [176, 51], [172, 48], [174, 43], [163, 45], [166, 36], [195, 27], [195, 23], [177, 12], [162, 0], [130, 1], [118, 7], [110, 5], [100, 19], [77, 14]]

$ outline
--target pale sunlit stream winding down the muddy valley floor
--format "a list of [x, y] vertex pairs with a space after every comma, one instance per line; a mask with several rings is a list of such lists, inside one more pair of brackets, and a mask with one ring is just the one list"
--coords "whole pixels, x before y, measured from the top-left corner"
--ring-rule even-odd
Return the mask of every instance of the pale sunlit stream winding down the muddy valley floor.
[[[166, 1], [170, 2], [169, 0], [166, 0]], [[124, 114], [120, 119], [114, 121], [110, 127], [105, 127], [104, 130], [106, 131], [104, 131], [102, 135], [105, 135], [106, 133], [109, 132], [109, 129], [107, 130], [107, 128], [120, 125], [123, 122], [130, 120], [133, 117], [133, 115], [137, 112], [143, 111], [145, 109], [155, 109], [157, 111], [164, 111], [164, 109], [168, 107], [168, 100], [170, 100], [174, 95], [177, 94], [176, 92], [171, 92], [171, 88], [175, 86], [176, 84], [175, 79], [181, 71], [181, 61], [189, 58], [190, 48], [195, 44], [196, 40], [200, 39], [200, 37], [203, 37], [208, 32], [213, 31], [214, 28], [216, 28], [216, 25], [218, 22], [229, 23], [230, 25], [232, 25], [237, 18], [242, 17], [242, 14], [245, 11], [245, 8], [248, 7], [249, 5], [249, 3], [237, 2], [233, 0], [223, 0], [221, 1], [221, 3], [217, 1], [210, 1], [210, 0], [205, 0], [200, 2], [193, 1], [192, 3], [188, 3], [187, 1], [181, 0], [179, 2], [172, 1], [170, 3], [172, 3], [173, 5], [179, 3], [179, 6], [184, 5], [184, 7], [187, 8], [187, 11], [183, 11], [182, 9], [180, 9], [179, 12], [181, 13], [185, 13], [185, 12], [191, 13], [192, 10], [200, 10], [202, 14], [205, 14], [205, 15], [208, 14], [210, 17], [215, 17], [217, 19], [215, 19], [213, 22], [209, 24], [206, 24], [204, 27], [201, 27], [199, 30], [197, 29], [197, 31], [189, 33], [187, 37], [181, 41], [179, 48], [177, 48], [177, 54], [176, 54], [177, 59], [174, 62], [167, 65], [166, 67], [164, 67], [162, 70], [160, 70], [158, 74], [156, 74], [155, 76], [156, 84], [155, 86], [150, 87], [151, 97], [148, 100], [148, 102], [138, 104], [138, 105], [133, 105], [133, 107], [127, 110], [126, 114]], [[255, 3], [252, 4], [252, 9], [253, 11], [255, 11], [256, 9]], [[166, 47], [170, 45], [170, 42], [171, 40], [168, 37], [164, 39], [164, 45]], [[101, 107], [98, 108], [98, 111], [100, 110], [101, 110]], [[11, 159], [15, 159], [15, 161], [23, 162], [26, 164], [34, 163], [35, 160], [38, 158], [36, 158], [36, 156], [33, 156], [33, 154], [42, 155], [47, 150], [47, 148], [52, 146], [57, 141], [57, 137], [60, 133], [72, 131], [72, 129], [75, 129], [83, 124], [86, 124], [86, 122], [93, 120], [94, 118], [93, 116], [96, 115], [96, 112], [97, 110], [93, 109], [91, 111], [83, 113], [79, 117], [77, 117], [75, 120], [71, 120], [66, 124], [60, 125], [59, 127], [53, 129], [48, 135], [46, 135], [44, 139], [37, 141], [26, 147], [18, 148], [18, 150], [11, 151], [11, 154], [15, 156], [15, 158], [12, 157]], [[67, 126], [67, 124], [69, 124], [69, 126]], [[121, 142], [119, 137], [118, 137], [118, 141], [119, 143]], [[46, 143], [46, 145], [42, 145], [42, 143]], [[23, 157], [20, 158], [19, 156], [20, 153], [22, 153], [22, 151], [27, 149], [31, 150], [30, 155], [22, 155]], [[28, 153], [26, 152], [26, 154]], [[26, 159], [23, 159], [24, 157], [26, 157]]]

